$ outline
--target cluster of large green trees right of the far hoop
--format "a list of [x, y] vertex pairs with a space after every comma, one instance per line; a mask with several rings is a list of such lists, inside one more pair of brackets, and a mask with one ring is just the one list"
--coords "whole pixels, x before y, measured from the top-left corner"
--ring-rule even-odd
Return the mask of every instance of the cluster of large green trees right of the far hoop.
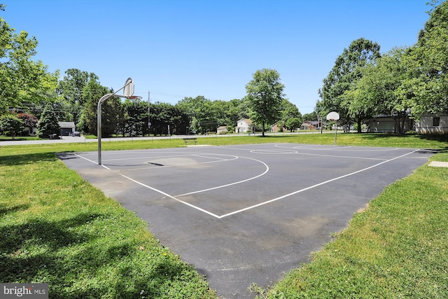
[[337, 111], [340, 123], [355, 123], [358, 132], [373, 116], [393, 116], [400, 133], [407, 120], [448, 113], [448, 3], [431, 5], [414, 46], [381, 55], [377, 43], [351, 42], [323, 80], [316, 111]]

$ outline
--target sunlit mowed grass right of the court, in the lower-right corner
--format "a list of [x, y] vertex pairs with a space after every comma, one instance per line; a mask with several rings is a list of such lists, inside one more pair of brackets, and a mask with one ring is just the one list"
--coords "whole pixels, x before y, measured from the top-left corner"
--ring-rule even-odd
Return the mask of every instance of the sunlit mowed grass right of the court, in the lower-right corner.
[[447, 215], [448, 168], [420, 167], [267, 298], [448, 298]]

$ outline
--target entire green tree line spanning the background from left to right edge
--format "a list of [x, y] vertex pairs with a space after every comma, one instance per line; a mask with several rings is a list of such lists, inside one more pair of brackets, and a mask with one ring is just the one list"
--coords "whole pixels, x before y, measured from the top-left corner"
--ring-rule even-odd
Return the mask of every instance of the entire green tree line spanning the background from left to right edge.
[[[325, 118], [330, 111], [339, 113], [340, 125], [355, 124], [358, 132], [365, 120], [380, 114], [393, 116], [402, 130], [405, 120], [448, 113], [448, 3], [433, 0], [431, 5], [414, 46], [381, 54], [373, 41], [351, 42], [323, 79], [320, 99], [308, 115], [286, 99], [276, 70], [260, 69], [242, 99], [184, 97], [173, 105], [111, 97], [102, 106], [103, 134], [205, 134], [219, 126], [233, 131], [237, 120], [250, 118], [264, 135], [274, 123], [295, 130], [304, 120]], [[36, 119], [54, 123], [56, 118], [97, 134], [97, 103], [111, 88], [101, 85], [96, 74], [79, 69], [67, 69], [59, 80], [59, 71], [50, 73], [43, 62], [32, 60], [36, 38], [15, 33], [3, 18], [0, 43], [0, 133], [13, 136]], [[38, 128], [40, 137], [51, 131], [43, 127]]]

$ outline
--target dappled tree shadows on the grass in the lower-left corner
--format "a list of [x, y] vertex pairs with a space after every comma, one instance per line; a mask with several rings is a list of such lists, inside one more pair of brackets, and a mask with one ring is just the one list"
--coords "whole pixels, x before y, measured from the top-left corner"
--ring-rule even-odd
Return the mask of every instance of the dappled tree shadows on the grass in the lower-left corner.
[[173, 281], [188, 286], [188, 269], [181, 260], [151, 256], [133, 238], [109, 237], [114, 221], [116, 215], [98, 213], [12, 224], [3, 218], [0, 281], [46, 282], [50, 298], [137, 298], [142, 290], [146, 298], [160, 298], [167, 291], [161, 286]]

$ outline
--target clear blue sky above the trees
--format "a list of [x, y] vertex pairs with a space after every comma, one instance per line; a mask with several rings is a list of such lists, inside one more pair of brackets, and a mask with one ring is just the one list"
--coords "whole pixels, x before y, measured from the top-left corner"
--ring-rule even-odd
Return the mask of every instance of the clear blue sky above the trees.
[[241, 99], [258, 69], [310, 113], [336, 57], [360, 37], [381, 53], [412, 46], [428, 0], [0, 0], [16, 32], [38, 40], [49, 71], [80, 69], [118, 90], [176, 104]]

